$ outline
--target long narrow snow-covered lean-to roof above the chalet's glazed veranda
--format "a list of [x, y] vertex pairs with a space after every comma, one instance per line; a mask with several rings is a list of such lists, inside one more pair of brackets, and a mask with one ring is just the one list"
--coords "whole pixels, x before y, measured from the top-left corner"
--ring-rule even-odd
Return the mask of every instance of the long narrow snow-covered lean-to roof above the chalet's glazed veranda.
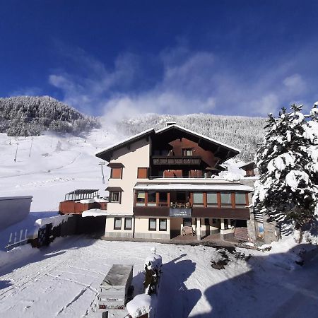
[[240, 183], [216, 183], [216, 184], [187, 184], [187, 183], [170, 183], [170, 184], [153, 184], [153, 183], [136, 183], [135, 190], [192, 190], [192, 191], [245, 191], [252, 192], [254, 189]]

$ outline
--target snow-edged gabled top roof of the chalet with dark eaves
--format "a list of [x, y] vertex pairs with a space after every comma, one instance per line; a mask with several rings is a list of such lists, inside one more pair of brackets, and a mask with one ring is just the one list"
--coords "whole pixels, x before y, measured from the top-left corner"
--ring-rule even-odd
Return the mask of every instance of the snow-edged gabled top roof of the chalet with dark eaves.
[[[110, 161], [113, 151], [116, 151], [117, 149], [122, 148], [124, 146], [129, 146], [129, 144], [133, 143], [134, 141], [139, 141], [139, 140], [141, 140], [141, 139], [143, 139], [143, 138], [145, 138], [147, 136], [158, 136], [159, 137], [160, 135], [163, 135], [163, 134], [165, 134], [165, 132], [170, 131], [170, 130], [177, 130], [177, 131], [180, 131], [180, 132], [184, 132], [184, 133], [186, 133], [188, 135], [194, 136], [194, 137], [196, 137], [198, 139], [201, 139], [203, 141], [206, 141], [206, 142], [208, 142], [210, 144], [212, 143], [216, 147], [223, 148], [223, 149], [229, 151], [230, 154], [227, 156], [228, 158], [232, 158], [235, 155], [237, 155], [238, 153], [240, 153], [239, 149], [234, 148], [232, 146], [229, 146], [226, 143], [222, 143], [220, 141], [216, 141], [215, 139], [212, 139], [212, 138], [210, 138], [208, 136], [204, 136], [204, 135], [198, 134], [195, 131], [192, 131], [190, 129], [186, 129], [186, 128], [184, 128], [182, 126], [179, 126], [177, 124], [172, 124], [170, 126], [166, 126], [163, 129], [159, 129], [157, 131], [155, 131], [155, 129], [153, 129], [153, 128], [145, 130], [145, 131], [142, 131], [139, 134], [131, 136], [131, 137], [127, 138], [127, 139], [124, 139], [123, 141], [119, 141], [119, 143], [115, 143], [114, 145], [112, 145], [110, 147], [102, 149], [102, 151], [98, 151], [97, 153], [95, 153], [95, 156], [98, 157], [98, 158], [101, 158], [103, 160]], [[226, 159], [228, 159], [228, 158], [226, 158]]]

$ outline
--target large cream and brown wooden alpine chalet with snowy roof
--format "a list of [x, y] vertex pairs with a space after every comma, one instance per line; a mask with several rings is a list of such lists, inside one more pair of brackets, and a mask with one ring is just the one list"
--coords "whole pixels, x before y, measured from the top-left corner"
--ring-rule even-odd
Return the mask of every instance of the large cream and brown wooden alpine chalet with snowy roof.
[[95, 153], [111, 169], [105, 237], [230, 239], [240, 229], [247, 240], [253, 189], [218, 177], [238, 153], [175, 122]]

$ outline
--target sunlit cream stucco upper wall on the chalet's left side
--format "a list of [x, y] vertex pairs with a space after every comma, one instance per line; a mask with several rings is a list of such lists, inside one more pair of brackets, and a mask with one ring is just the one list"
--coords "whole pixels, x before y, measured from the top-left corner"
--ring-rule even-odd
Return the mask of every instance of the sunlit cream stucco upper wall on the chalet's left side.
[[[110, 202], [107, 204], [107, 211], [110, 213], [133, 214], [134, 192], [133, 188], [137, 182], [137, 168], [149, 167], [150, 139], [141, 139], [131, 143], [130, 149], [123, 147], [114, 151], [110, 163], [122, 163], [122, 179], [109, 179], [108, 187], [121, 187], [121, 204]], [[145, 179], [138, 179], [144, 181]]]

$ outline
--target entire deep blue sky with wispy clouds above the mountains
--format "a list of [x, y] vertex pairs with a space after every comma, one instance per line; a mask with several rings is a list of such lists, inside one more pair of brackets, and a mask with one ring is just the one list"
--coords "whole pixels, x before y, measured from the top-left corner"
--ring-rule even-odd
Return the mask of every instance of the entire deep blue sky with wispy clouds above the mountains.
[[1, 1], [0, 96], [93, 115], [318, 100], [318, 1]]

